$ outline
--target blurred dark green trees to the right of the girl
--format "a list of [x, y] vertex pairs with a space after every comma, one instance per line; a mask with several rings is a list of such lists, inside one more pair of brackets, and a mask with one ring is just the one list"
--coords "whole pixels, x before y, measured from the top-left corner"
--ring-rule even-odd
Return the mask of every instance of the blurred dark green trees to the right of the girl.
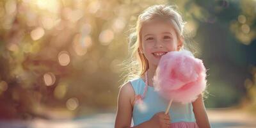
[[198, 24], [196, 42], [209, 67], [208, 107], [237, 104], [246, 93], [248, 67], [255, 65], [255, 1], [188, 1], [189, 12]]

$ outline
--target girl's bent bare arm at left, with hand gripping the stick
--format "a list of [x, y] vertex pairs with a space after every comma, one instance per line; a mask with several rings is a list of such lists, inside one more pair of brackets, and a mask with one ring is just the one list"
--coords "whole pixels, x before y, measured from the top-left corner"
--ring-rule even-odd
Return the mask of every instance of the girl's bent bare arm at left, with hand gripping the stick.
[[[118, 94], [118, 106], [116, 113], [115, 128], [131, 128], [132, 103], [134, 102], [135, 93], [131, 83], [126, 83], [120, 88]], [[169, 115], [163, 112], [156, 113], [150, 120], [136, 125], [133, 128], [152, 128], [152, 127], [170, 127]]]

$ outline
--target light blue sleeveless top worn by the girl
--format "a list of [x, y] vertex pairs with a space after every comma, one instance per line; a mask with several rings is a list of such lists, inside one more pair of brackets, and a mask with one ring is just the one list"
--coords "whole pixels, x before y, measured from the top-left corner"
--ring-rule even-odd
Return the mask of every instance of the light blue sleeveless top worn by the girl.
[[[143, 79], [136, 78], [131, 81], [132, 88], [136, 95], [142, 95], [145, 87]], [[134, 104], [132, 109], [132, 120], [134, 126], [139, 125], [147, 120], [150, 120], [154, 114], [165, 111], [169, 101], [163, 99], [159, 95], [154, 87], [148, 86], [147, 93], [143, 99], [142, 104]], [[172, 102], [172, 106], [169, 111], [171, 123], [175, 122], [196, 122], [195, 115], [193, 113], [193, 105], [191, 103], [181, 104], [179, 102]]]

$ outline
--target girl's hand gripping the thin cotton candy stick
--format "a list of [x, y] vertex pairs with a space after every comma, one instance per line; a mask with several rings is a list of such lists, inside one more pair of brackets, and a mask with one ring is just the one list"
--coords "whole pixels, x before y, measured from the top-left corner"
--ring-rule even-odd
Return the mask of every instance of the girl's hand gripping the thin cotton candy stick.
[[165, 115], [164, 112], [156, 113], [149, 122], [152, 127], [170, 128], [170, 116]]

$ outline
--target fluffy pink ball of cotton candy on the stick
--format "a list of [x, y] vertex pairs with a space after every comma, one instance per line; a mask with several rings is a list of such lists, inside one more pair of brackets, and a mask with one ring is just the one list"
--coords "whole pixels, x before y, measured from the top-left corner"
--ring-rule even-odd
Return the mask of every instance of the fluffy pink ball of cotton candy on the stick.
[[172, 51], [159, 61], [154, 86], [165, 99], [193, 102], [205, 90], [206, 71], [202, 60], [189, 51]]

